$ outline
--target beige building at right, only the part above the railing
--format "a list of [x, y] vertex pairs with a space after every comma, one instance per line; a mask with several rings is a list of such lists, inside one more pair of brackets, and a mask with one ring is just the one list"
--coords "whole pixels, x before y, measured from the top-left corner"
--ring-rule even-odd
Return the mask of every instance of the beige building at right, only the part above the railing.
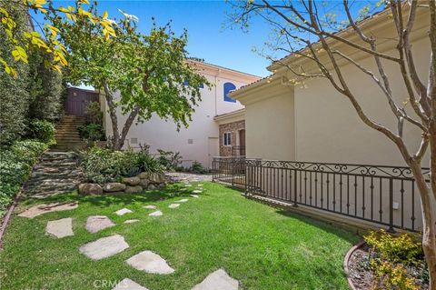
[[[425, 13], [427, 9], [423, 9]], [[428, 79], [431, 44], [428, 37], [429, 15], [418, 9], [411, 33], [412, 50], [418, 74]], [[379, 44], [383, 54], [398, 55], [396, 34], [384, 11], [364, 22], [367, 31], [382, 39]], [[356, 41], [349, 28], [347, 37]], [[372, 55], [352, 51], [338, 44], [352, 58], [358, 59], [366, 68], [377, 71]], [[298, 56], [298, 55], [297, 55]], [[312, 67], [305, 57], [288, 55], [284, 65]], [[421, 56], [421, 57], [418, 57]], [[399, 151], [384, 135], [362, 123], [351, 102], [337, 92], [325, 78], [298, 79], [282, 64], [272, 64], [267, 69], [272, 75], [251, 85], [233, 91], [230, 96], [245, 105], [246, 155], [250, 158], [273, 160], [296, 160], [369, 165], [405, 165]], [[397, 123], [391, 108], [380, 88], [371, 77], [358, 68], [341, 62], [343, 75], [363, 110], [377, 122], [396, 130]], [[406, 101], [408, 94], [401, 81], [400, 69], [393, 63], [386, 64], [386, 73], [391, 79], [393, 95], [398, 103]], [[398, 81], [396, 81], [398, 80]], [[410, 105], [406, 110], [411, 113]], [[411, 113], [413, 114], [413, 113]], [[421, 130], [405, 125], [404, 136], [411, 148], [417, 149]], [[413, 141], [415, 144], [413, 144]], [[429, 164], [425, 159], [423, 164]]]

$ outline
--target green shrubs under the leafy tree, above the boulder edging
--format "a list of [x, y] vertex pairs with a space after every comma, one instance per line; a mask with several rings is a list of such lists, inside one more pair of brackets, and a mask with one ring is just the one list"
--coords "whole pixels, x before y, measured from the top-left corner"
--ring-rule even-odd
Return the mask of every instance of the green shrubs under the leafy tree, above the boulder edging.
[[146, 150], [113, 151], [93, 147], [80, 155], [80, 165], [87, 182], [104, 184], [120, 181], [122, 177], [140, 172], [162, 172], [162, 166]]

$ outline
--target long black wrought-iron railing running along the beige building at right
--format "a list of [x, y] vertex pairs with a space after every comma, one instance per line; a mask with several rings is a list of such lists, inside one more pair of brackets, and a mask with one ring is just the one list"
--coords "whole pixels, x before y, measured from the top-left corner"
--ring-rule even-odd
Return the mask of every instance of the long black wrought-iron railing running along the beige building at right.
[[[214, 180], [222, 175], [232, 180], [236, 173], [250, 195], [386, 225], [391, 232], [421, 230], [421, 203], [409, 167], [237, 158], [221, 159], [217, 165], [221, 167], [215, 167]], [[238, 169], [221, 171], [233, 166]]]

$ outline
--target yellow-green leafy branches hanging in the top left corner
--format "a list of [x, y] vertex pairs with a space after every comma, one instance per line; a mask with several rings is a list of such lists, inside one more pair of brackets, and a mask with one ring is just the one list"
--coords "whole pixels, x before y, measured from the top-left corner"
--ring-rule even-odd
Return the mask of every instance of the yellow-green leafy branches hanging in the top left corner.
[[[74, 23], [77, 16], [86, 18], [87, 21], [96, 25], [101, 25], [104, 36], [109, 38], [114, 36], [112, 22], [106, 17], [92, 15], [84, 10], [84, 5], [89, 5], [89, 0], [76, 0], [75, 6], [54, 7], [51, 0], [0, 0], [0, 28], [2, 30], [2, 41], [5, 39], [12, 44], [10, 50], [0, 55], [0, 65], [8, 75], [18, 77], [16, 65], [28, 63], [28, 52], [39, 50], [45, 55], [50, 55], [51, 62], [45, 63], [54, 70], [61, 72], [61, 68], [67, 65], [65, 54], [66, 50], [57, 37], [58, 29], [46, 23], [43, 27], [44, 35], [32, 29], [17, 29], [22, 25], [32, 26], [32, 15], [30, 13], [17, 17], [15, 11], [22, 10], [28, 12], [47, 14], [48, 12], [64, 15], [66, 19]], [[11, 10], [11, 7], [14, 9]], [[13, 60], [11, 60], [12, 56]]]

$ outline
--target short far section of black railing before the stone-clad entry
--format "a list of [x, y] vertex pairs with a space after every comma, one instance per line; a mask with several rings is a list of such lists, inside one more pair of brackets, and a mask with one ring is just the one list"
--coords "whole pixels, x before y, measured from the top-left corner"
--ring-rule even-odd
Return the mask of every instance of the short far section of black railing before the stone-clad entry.
[[245, 187], [245, 157], [213, 157], [213, 181], [234, 187]]

